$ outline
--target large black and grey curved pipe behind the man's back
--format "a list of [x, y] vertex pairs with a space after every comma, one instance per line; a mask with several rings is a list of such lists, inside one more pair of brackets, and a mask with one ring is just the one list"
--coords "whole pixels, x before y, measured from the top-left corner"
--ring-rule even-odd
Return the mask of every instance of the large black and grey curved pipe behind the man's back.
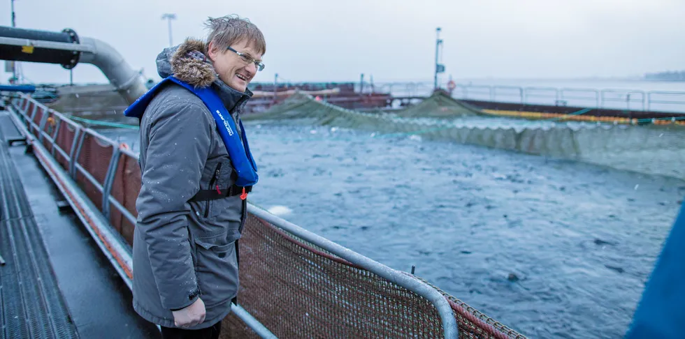
[[57, 63], [66, 69], [91, 63], [129, 104], [147, 91], [140, 74], [117, 50], [102, 40], [79, 38], [71, 29], [56, 33], [0, 26], [0, 60]]

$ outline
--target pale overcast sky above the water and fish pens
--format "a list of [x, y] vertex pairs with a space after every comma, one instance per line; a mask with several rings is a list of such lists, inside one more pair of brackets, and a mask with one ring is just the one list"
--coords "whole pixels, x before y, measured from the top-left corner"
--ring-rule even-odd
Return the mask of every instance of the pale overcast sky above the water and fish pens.
[[[10, 0], [0, 24], [10, 25]], [[445, 75], [464, 78], [622, 77], [685, 69], [684, 0], [17, 0], [17, 27], [99, 38], [159, 79], [154, 58], [173, 40], [204, 37], [203, 20], [249, 18], [264, 32], [254, 81], [431, 81], [435, 27]], [[69, 82], [61, 66], [23, 63], [33, 82]], [[3, 70], [3, 69], [2, 69]], [[9, 74], [2, 73], [6, 83]], [[367, 78], [368, 79], [368, 78]], [[87, 64], [75, 82], [106, 82]]]

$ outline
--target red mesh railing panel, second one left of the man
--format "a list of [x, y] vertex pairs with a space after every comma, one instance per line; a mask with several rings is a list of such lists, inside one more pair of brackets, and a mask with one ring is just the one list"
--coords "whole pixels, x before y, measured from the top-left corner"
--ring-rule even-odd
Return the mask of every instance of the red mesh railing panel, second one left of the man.
[[[112, 144], [101, 142], [91, 131], [87, 131], [83, 135], [77, 163], [102, 186], [105, 183], [107, 169], [113, 153], [114, 146]], [[98, 188], [78, 169], [76, 170], [76, 183], [95, 206], [102, 207], [101, 188]]]

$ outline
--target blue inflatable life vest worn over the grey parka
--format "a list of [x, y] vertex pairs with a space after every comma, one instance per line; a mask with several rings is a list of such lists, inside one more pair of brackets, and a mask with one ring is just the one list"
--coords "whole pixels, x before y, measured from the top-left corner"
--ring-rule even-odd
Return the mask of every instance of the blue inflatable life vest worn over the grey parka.
[[[257, 165], [254, 163], [252, 158], [252, 153], [250, 153], [250, 146], [247, 143], [247, 137], [245, 136], [245, 128], [243, 128], [243, 121], [238, 120], [240, 123], [240, 130], [243, 130], [243, 138], [240, 139], [238, 130], [236, 130], [236, 123], [231, 118], [231, 114], [224, 103], [222, 103], [219, 95], [210, 87], [194, 88], [194, 86], [182, 82], [175, 77], [166, 77], [159, 84], [154, 85], [147, 93], [140, 96], [135, 103], [130, 105], [126, 110], [124, 110], [124, 116], [134, 116], [138, 119], [143, 117], [145, 108], [150, 104], [152, 98], [161, 88], [162, 85], [167, 82], [175, 82], [185, 87], [185, 89], [191, 91], [196, 96], [198, 96], [202, 102], [207, 106], [207, 108], [212, 112], [214, 120], [217, 123], [217, 129], [219, 130], [219, 135], [221, 135], [224, 141], [224, 146], [226, 146], [226, 151], [228, 151], [231, 157], [231, 163], [236, 169], [238, 174], [238, 179], [236, 179], [236, 186], [248, 187], [253, 186], [259, 180], [257, 175]], [[224, 119], [224, 116], [226, 118]]]

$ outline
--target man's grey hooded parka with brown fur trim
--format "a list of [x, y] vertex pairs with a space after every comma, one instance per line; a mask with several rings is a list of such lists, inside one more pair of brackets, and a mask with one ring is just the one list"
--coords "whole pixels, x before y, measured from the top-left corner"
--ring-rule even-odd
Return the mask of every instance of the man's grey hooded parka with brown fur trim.
[[[252, 93], [231, 89], [216, 76], [204, 43], [186, 40], [157, 57], [161, 77], [173, 74], [195, 86], [213, 86], [238, 126]], [[238, 133], [243, 133], [239, 130]], [[199, 190], [233, 186], [231, 159], [203, 102], [169, 84], [140, 121], [142, 188], [133, 245], [134, 309], [154, 324], [175, 327], [172, 310], [201, 298], [206, 319], [220, 322], [238, 293], [236, 240], [246, 216], [239, 195], [190, 201]]]

